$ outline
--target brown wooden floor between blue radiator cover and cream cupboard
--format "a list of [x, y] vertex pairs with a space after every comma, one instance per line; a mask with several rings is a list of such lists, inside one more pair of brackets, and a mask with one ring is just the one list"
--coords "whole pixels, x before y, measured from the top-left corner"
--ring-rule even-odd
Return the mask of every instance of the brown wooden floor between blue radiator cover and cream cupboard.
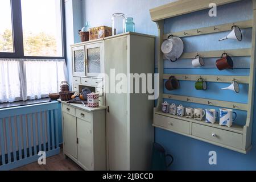
[[46, 165], [39, 165], [38, 162], [27, 164], [13, 171], [82, 171], [83, 169], [78, 166], [73, 160], [63, 157], [63, 150], [60, 154], [51, 156], [46, 159]]

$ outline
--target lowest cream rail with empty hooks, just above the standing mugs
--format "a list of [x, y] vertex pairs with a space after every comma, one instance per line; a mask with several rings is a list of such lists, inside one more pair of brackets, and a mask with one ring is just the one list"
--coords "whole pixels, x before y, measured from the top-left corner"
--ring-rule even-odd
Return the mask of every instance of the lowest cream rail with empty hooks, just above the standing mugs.
[[163, 98], [177, 100], [177, 101], [184, 101], [184, 102], [193, 102], [197, 104], [204, 104], [204, 105], [210, 105], [210, 106], [228, 107], [230, 109], [247, 111], [247, 104], [242, 104], [238, 102], [218, 101], [218, 100], [211, 100], [208, 98], [179, 96], [174, 94], [163, 94]]

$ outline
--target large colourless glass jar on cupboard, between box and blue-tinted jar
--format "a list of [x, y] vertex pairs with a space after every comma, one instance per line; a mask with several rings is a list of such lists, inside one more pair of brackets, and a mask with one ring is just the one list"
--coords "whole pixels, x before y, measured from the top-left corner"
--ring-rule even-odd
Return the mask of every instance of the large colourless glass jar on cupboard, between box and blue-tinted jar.
[[125, 32], [125, 15], [115, 13], [112, 15], [112, 35], [122, 34]]

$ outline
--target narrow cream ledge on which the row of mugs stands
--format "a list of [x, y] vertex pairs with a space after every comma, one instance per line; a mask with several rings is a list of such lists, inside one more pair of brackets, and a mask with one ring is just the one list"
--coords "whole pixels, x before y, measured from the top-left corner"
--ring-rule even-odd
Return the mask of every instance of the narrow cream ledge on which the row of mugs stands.
[[227, 130], [227, 131], [232, 131], [234, 133], [240, 133], [243, 134], [243, 126], [241, 125], [235, 125], [233, 124], [231, 127], [227, 127], [227, 126], [221, 126], [217, 123], [206, 123], [205, 121], [198, 121], [195, 119], [191, 119], [191, 118], [186, 118], [186, 117], [179, 117], [177, 115], [172, 115], [172, 114], [168, 114], [168, 113], [163, 113], [162, 111], [156, 111], [155, 114], [159, 114], [159, 115], [164, 115], [166, 117], [170, 117], [170, 118], [175, 118], [175, 119], [181, 119], [184, 121], [189, 121], [189, 122], [193, 122], [193, 123], [198, 123], [201, 125], [205, 125], [205, 126], [209, 126], [209, 127], [216, 127], [217, 129], [222, 129], [222, 130]]

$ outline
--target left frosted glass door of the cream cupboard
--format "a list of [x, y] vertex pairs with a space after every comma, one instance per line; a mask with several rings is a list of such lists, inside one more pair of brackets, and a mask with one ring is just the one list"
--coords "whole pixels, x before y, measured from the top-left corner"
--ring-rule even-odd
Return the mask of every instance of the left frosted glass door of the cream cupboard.
[[72, 48], [73, 76], [85, 76], [85, 48], [84, 46]]

